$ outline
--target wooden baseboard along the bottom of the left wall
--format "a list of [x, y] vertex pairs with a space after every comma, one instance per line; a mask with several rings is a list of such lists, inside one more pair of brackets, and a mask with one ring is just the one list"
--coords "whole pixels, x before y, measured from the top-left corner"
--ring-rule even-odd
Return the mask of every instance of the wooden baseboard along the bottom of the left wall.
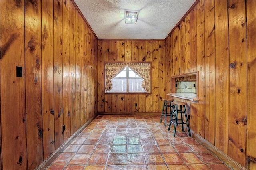
[[50, 164], [66, 149], [66, 147], [72, 143], [72, 141], [86, 128], [96, 117], [98, 114], [94, 115], [91, 119], [89, 119], [82, 127], [80, 127], [66, 142], [64, 142], [59, 148], [57, 148], [46, 160], [44, 160], [35, 170], [45, 170]]

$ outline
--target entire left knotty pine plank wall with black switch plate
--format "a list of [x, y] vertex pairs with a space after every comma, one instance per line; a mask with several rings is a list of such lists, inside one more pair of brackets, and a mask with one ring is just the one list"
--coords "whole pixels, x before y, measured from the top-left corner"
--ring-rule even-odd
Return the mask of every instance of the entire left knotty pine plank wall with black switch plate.
[[36, 168], [97, 112], [97, 38], [73, 3], [0, 1], [2, 169]]

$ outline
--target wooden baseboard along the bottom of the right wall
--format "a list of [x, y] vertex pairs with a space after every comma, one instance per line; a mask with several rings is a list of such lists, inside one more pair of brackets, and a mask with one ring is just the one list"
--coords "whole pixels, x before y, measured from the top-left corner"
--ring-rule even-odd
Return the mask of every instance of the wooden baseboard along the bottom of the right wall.
[[215, 146], [210, 144], [207, 140], [202, 138], [200, 135], [193, 132], [193, 130], [190, 130], [190, 132], [191, 132], [192, 138], [194, 138], [197, 142], [199, 142], [204, 147], [206, 147], [208, 150], [210, 150], [210, 152], [212, 152], [212, 154], [214, 154], [215, 156], [220, 158], [220, 160], [222, 160], [224, 162], [224, 164], [226, 164], [227, 166], [229, 166], [230, 168], [232, 168], [234, 170], [238, 170], [238, 169], [247, 170], [242, 165], [238, 164], [235, 160], [233, 160], [228, 155], [226, 155], [224, 152], [222, 152], [221, 150], [219, 150], [218, 148], [216, 148]]

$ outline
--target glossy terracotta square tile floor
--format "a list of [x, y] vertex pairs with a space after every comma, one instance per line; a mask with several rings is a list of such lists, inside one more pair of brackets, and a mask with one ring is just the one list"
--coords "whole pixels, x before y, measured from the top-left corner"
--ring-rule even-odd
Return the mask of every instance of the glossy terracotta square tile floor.
[[48, 170], [228, 170], [180, 128], [156, 115], [98, 115]]

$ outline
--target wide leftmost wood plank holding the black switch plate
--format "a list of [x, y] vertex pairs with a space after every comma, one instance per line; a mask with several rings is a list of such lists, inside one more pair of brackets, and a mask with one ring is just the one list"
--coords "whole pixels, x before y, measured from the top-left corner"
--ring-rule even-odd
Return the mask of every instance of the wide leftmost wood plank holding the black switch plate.
[[[2, 169], [27, 169], [23, 26], [24, 1], [0, 1]], [[16, 77], [16, 66], [22, 77]]]

